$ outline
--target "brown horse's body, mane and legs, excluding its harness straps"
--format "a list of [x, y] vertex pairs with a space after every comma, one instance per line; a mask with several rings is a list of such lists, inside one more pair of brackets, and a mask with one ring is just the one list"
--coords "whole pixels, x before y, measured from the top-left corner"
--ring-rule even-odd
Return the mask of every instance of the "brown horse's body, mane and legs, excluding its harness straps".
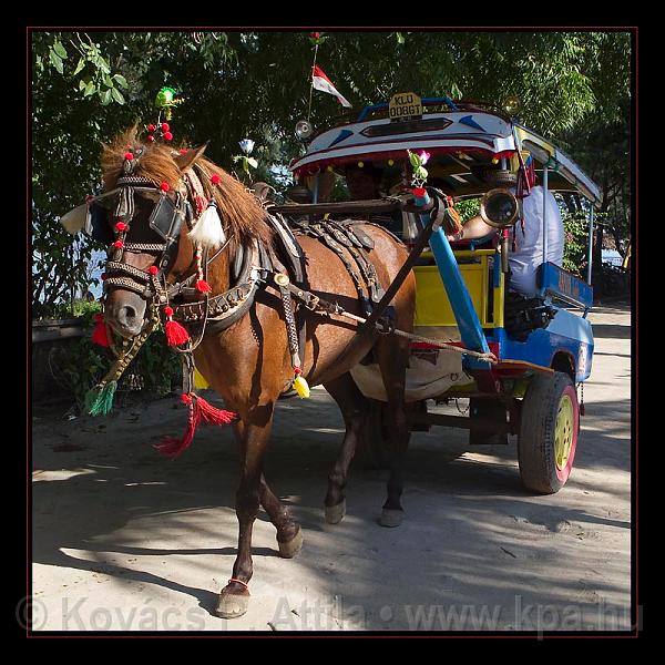
[[[131, 151], [134, 155], [132, 176], [144, 178], [144, 183], [150, 181], [155, 192], [158, 192], [162, 183], [166, 183], [166, 196], [175, 197], [180, 193], [190, 196], [190, 200], [191, 193], [184, 185], [186, 174], [194, 168], [202, 176], [200, 181], [205, 197], [208, 201], [214, 198], [228, 238], [224, 249], [207, 265], [212, 297], [234, 286], [234, 260], [241, 248], [248, 252], [257, 244], [269, 247], [274, 238], [266, 223], [266, 211], [257, 198], [236, 178], [204, 158], [204, 149], [178, 152], [160, 142], [145, 144], [139, 140], [134, 129], [104, 146], [102, 171], [105, 190], [115, 188], [119, 178], [123, 177], [123, 173], [126, 174], [126, 153]], [[165, 188], [162, 186], [162, 191]], [[182, 283], [195, 273], [195, 248], [187, 236], [186, 225], [182, 225], [173, 256], [164, 267], [162, 257], [149, 249], [141, 250], [141, 247], [149, 247], [151, 242], [149, 217], [155, 206], [154, 197], [144, 196], [136, 193], [139, 203], [126, 231], [125, 241], [132, 250], [120, 249], [115, 254], [116, 263], [122, 263], [129, 270], [137, 268], [144, 274], [150, 273], [151, 266], [158, 265], [165, 284]], [[370, 252], [371, 262], [382, 286], [387, 287], [403, 264], [407, 249], [390, 233], [376, 225], [364, 224], [362, 229], [375, 243]], [[303, 235], [298, 239], [306, 256], [306, 278], [310, 291], [339, 303], [348, 311], [364, 315], [355, 284], [340, 258], [316, 238]], [[146, 325], [147, 311], [152, 307], [149, 300], [145, 294], [124, 288], [122, 284], [108, 285], [108, 324], [124, 338], [136, 336]], [[405, 280], [392, 306], [396, 326], [412, 330], [412, 274]], [[300, 350], [304, 376], [310, 386], [323, 385], [326, 388], [339, 405], [346, 424], [338, 459], [328, 477], [326, 519], [336, 523], [344, 516], [347, 473], [369, 410], [368, 400], [356, 387], [349, 369], [372, 352], [380, 365], [388, 393], [387, 412], [391, 418], [390, 444], [393, 451], [381, 523], [397, 525], [402, 514], [400, 470], [409, 439], [403, 401], [408, 340], [374, 332], [359, 336], [356, 324], [334, 314], [307, 311], [307, 317], [306, 344]], [[247, 584], [253, 572], [252, 528], [259, 504], [277, 530], [282, 556], [295, 556], [303, 543], [300, 526], [272, 492], [263, 474], [275, 405], [294, 377], [284, 318], [279, 293], [269, 284], [263, 284], [246, 315], [225, 330], [206, 334], [194, 351], [201, 374], [222, 396], [226, 406], [239, 416], [234, 424], [241, 443], [241, 481], [236, 494], [238, 551], [232, 579], [222, 590], [217, 607], [217, 614], [227, 618], [239, 616], [247, 610]]]

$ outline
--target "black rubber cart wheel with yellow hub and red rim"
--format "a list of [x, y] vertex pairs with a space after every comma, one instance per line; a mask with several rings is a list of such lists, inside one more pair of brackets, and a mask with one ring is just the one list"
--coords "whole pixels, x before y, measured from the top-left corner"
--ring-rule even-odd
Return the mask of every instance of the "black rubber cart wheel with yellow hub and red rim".
[[518, 460], [526, 488], [557, 492], [569, 479], [580, 430], [577, 393], [563, 372], [536, 375], [522, 402]]

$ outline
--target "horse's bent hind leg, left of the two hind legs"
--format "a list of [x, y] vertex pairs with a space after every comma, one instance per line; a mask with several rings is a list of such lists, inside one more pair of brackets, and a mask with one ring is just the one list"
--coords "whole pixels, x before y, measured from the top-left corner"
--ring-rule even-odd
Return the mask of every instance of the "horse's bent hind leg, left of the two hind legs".
[[339, 406], [346, 426], [344, 441], [328, 475], [328, 493], [324, 500], [326, 522], [337, 524], [346, 513], [344, 488], [347, 483], [349, 464], [354, 459], [369, 412], [369, 402], [348, 372], [326, 382], [325, 388]]

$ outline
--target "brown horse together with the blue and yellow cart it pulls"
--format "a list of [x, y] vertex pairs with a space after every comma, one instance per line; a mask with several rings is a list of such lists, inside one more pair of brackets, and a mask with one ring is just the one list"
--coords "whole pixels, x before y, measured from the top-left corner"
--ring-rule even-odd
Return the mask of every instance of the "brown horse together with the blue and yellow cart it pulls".
[[[298, 127], [303, 136], [310, 130]], [[205, 145], [175, 150], [167, 123], [145, 130], [104, 144], [103, 193], [62, 217], [70, 233], [84, 231], [108, 250], [93, 341], [115, 359], [86, 410], [110, 411], [117, 380], [161, 326], [183, 358], [188, 419], [160, 452], [184, 452], [198, 424], [234, 424], [238, 553], [219, 616], [247, 610], [259, 505], [282, 556], [303, 545], [263, 466], [275, 405], [291, 387], [307, 397], [308, 382], [323, 385], [344, 416], [324, 499], [329, 523], [345, 515], [371, 405], [390, 440], [383, 526], [402, 520], [409, 430], [434, 424], [468, 429], [471, 444], [516, 434], [524, 484], [561, 489], [577, 444], [576, 387], [591, 372], [593, 291], [591, 273], [585, 282], [548, 260], [546, 197], [552, 190], [590, 202], [590, 238], [598, 203], [597, 187], [566, 155], [494, 109], [400, 94], [316, 135], [290, 165], [295, 203], [275, 205], [207, 160]], [[337, 174], [351, 201], [330, 202]], [[509, 270], [521, 211], [538, 196], [543, 260], [536, 291], [522, 297]], [[478, 242], [458, 233], [457, 206], [468, 198], [480, 200], [491, 232]], [[197, 393], [196, 369], [224, 409]], [[468, 417], [430, 410], [459, 398], [470, 399]]]

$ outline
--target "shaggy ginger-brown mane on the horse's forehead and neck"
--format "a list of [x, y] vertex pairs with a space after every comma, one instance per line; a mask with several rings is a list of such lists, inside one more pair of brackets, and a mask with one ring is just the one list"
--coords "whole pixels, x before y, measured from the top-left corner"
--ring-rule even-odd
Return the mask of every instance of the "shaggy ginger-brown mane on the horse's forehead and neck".
[[[178, 158], [184, 158], [181, 157], [180, 150], [161, 142], [144, 143], [139, 139], [137, 125], [123, 132], [111, 143], [103, 144], [102, 147], [102, 180], [105, 191], [113, 190], [117, 178], [123, 175], [125, 153], [135, 153], [139, 149], [142, 149], [143, 153], [137, 160], [134, 175], [149, 178], [157, 187], [163, 182], [168, 183], [172, 188], [178, 187], [182, 177]], [[221, 216], [235, 241], [247, 244], [256, 238], [270, 244], [273, 232], [264, 222], [266, 213], [254, 194], [209, 160], [198, 156], [192, 165], [194, 164], [203, 171], [203, 177], [201, 171], [197, 174], [206, 197], [214, 196]], [[217, 185], [211, 182], [214, 174], [219, 176]]]

